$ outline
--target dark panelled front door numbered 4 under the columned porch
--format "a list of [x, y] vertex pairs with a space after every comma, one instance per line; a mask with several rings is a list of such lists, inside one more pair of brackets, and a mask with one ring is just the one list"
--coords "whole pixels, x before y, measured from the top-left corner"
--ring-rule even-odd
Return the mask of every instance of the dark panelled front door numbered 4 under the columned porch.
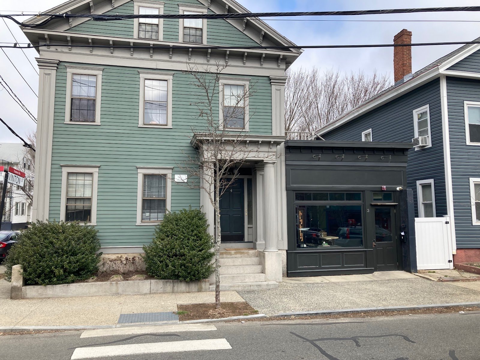
[[245, 238], [245, 195], [243, 179], [235, 180], [220, 197], [220, 226], [223, 241]]

